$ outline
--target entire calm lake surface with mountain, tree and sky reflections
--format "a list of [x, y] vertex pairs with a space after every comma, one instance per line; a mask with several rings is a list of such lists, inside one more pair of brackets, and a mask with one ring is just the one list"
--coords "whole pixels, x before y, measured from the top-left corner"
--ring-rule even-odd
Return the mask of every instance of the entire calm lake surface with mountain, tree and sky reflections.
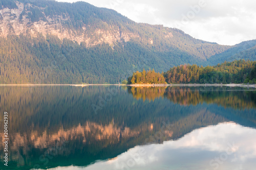
[[255, 169], [256, 91], [0, 87], [0, 169]]

